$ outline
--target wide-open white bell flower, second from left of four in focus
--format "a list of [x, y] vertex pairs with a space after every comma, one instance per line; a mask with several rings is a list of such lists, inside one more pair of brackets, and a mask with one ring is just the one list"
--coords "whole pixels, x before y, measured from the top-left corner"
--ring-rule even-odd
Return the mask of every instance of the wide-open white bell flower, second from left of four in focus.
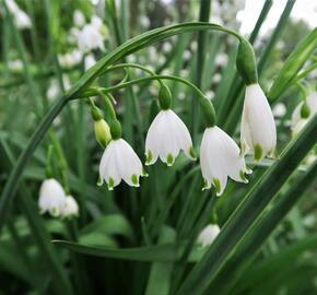
[[145, 140], [145, 165], [152, 165], [157, 157], [172, 166], [179, 151], [195, 160], [192, 141], [186, 125], [172, 110], [161, 110], [151, 123]]

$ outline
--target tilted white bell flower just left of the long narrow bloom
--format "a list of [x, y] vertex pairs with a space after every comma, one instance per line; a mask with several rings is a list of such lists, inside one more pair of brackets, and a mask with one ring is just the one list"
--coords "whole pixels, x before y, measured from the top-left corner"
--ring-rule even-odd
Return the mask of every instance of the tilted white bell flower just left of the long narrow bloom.
[[245, 174], [251, 173], [246, 167], [238, 145], [219, 127], [207, 128], [200, 145], [200, 166], [204, 179], [203, 189], [215, 187], [221, 196], [226, 187], [227, 176], [233, 180], [247, 184]]

